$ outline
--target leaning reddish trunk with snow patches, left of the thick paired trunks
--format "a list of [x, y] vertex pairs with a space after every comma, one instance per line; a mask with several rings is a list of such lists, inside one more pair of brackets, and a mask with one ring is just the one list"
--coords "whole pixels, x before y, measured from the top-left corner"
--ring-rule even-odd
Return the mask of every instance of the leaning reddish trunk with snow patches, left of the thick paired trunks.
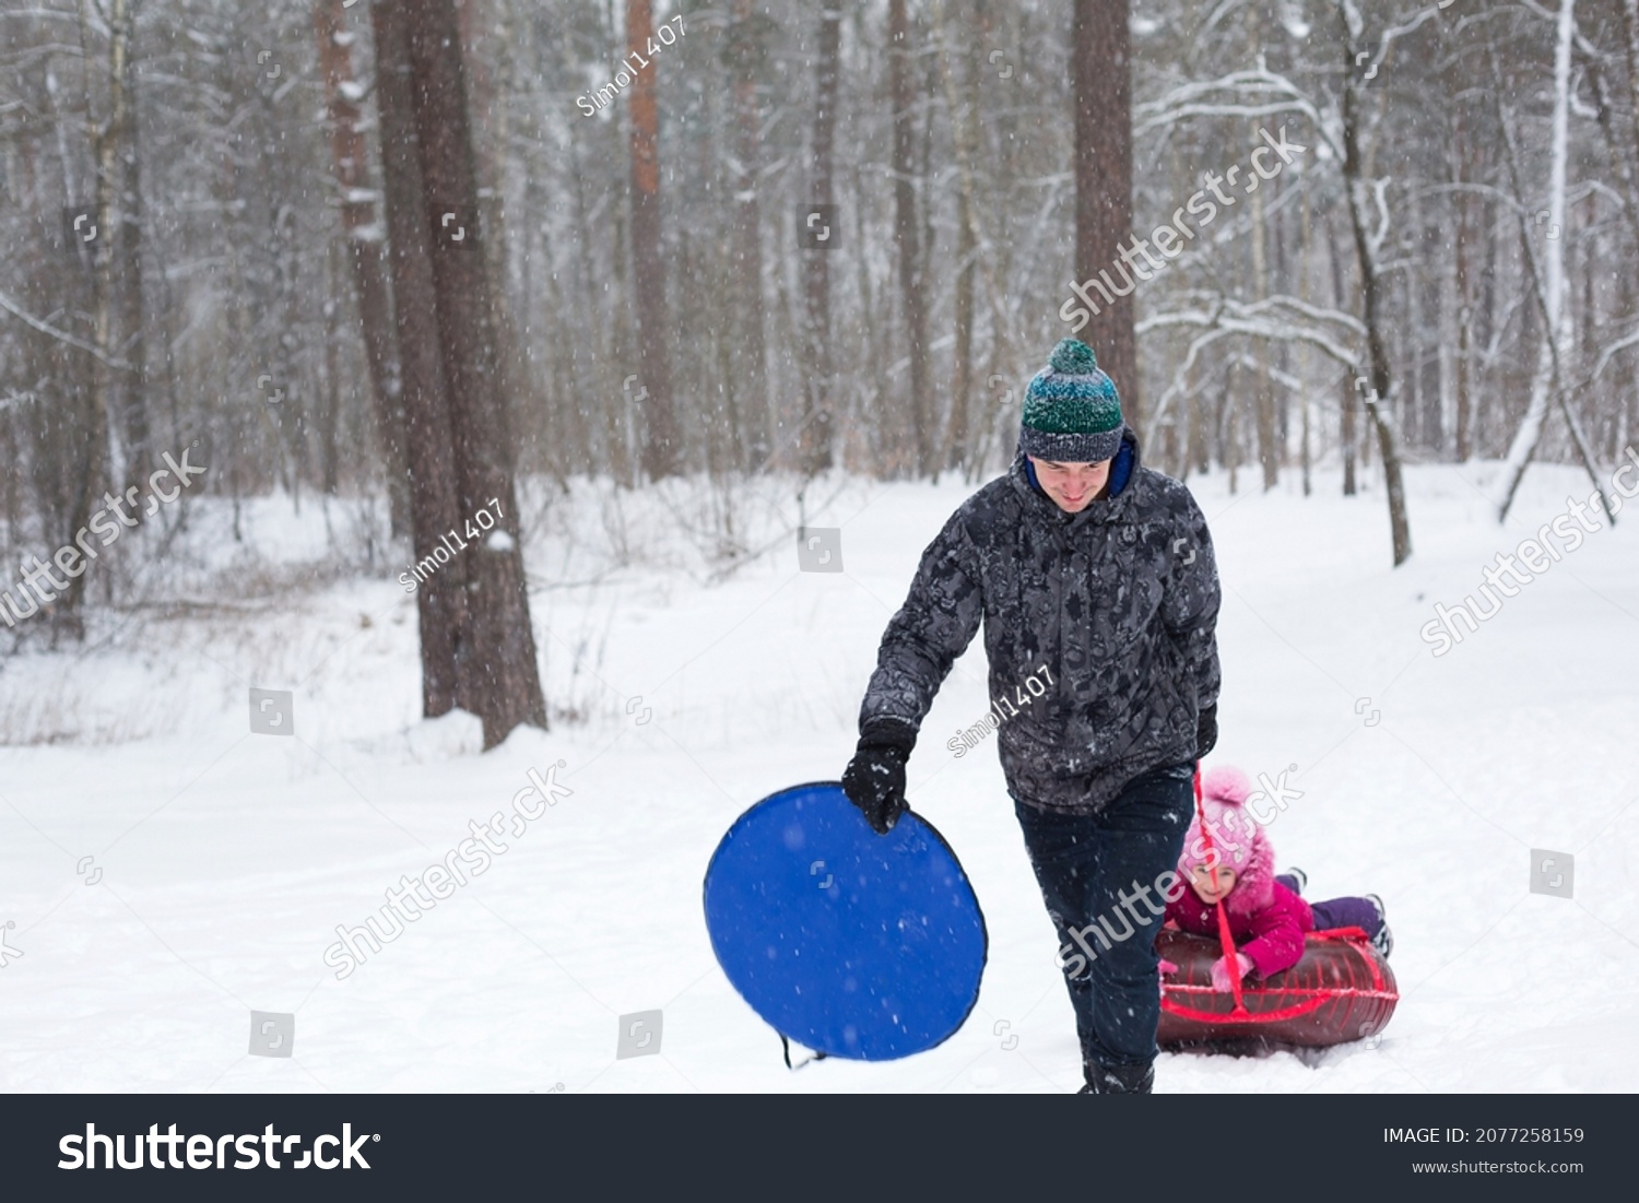
[[393, 536], [403, 536], [411, 531], [403, 395], [398, 357], [393, 354], [392, 293], [382, 259], [382, 228], [375, 221], [375, 203], [369, 200], [364, 123], [352, 98], [357, 90], [352, 39], [339, 36], [346, 28], [343, 0], [320, 0], [313, 8], [313, 33], [318, 38], [320, 70], [325, 74], [331, 169], [341, 192], [341, 229], [364, 333], [364, 362], [370, 372], [375, 438], [387, 465], [392, 531]]

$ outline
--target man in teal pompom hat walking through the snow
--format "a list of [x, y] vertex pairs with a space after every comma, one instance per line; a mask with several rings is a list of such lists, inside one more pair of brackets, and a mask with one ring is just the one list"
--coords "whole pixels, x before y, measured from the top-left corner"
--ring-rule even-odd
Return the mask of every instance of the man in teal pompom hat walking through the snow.
[[[1218, 738], [1218, 570], [1195, 498], [1139, 465], [1115, 385], [1075, 339], [1024, 393], [1011, 470], [946, 523], [882, 636], [842, 774], [879, 833], [905, 810], [905, 760], [980, 621], [992, 697], [1008, 701], [1001, 769], [1059, 931], [1082, 1093], [1149, 1093], [1165, 900], [1137, 901], [1177, 865], [1195, 762]], [[1031, 675], [1039, 697], [1019, 688]], [[1087, 956], [1067, 962], [1075, 947]]]

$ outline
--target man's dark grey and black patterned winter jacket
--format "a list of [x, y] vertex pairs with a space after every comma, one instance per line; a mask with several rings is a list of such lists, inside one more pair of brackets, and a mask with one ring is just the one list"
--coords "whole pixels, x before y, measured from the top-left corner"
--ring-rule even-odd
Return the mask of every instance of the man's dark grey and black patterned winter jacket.
[[[882, 636], [860, 734], [913, 741], [983, 620], [990, 695], [1010, 701], [998, 742], [1013, 797], [1088, 813], [1139, 774], [1193, 760], [1198, 711], [1218, 705], [1206, 520], [1188, 488], [1139, 465], [1131, 433], [1110, 492], [1067, 515], [1021, 452], [974, 493], [923, 552]], [[1052, 685], [1018, 705], [1033, 674]]]

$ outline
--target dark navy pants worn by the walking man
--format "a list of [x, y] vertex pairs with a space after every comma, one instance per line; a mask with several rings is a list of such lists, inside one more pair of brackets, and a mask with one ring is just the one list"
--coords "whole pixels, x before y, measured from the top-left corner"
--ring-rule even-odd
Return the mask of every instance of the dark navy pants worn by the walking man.
[[[1139, 900], [1139, 887], [1154, 887], [1178, 865], [1195, 811], [1193, 777], [1193, 764], [1154, 769], [1128, 782], [1096, 815], [1013, 801], [1047, 913], [1060, 947], [1069, 949], [1064, 972], [1083, 1062], [1118, 1067], [1155, 1059], [1160, 978], [1154, 944], [1162, 918]], [[1123, 892], [1131, 906], [1121, 905]], [[1165, 906], [1154, 888], [1149, 898]], [[1095, 921], [1103, 933], [1088, 931]], [[1072, 929], [1082, 933], [1080, 941]], [[1118, 939], [1123, 933], [1131, 934]]]

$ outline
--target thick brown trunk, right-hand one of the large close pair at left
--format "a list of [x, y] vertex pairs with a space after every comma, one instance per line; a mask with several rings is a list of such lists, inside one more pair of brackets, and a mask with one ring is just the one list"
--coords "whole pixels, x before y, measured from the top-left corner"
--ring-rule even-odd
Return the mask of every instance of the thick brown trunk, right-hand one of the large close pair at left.
[[[446, 229], [479, 211], [479, 182], [467, 116], [461, 25], [454, 0], [420, 0], [408, 10], [411, 102], [420, 143], [421, 182], [428, 220]], [[477, 236], [479, 231], [467, 231]], [[518, 538], [518, 500], [513, 490], [513, 441], [508, 398], [495, 331], [484, 252], [449, 236], [433, 249], [433, 288], [438, 303], [438, 343], [449, 388], [451, 446], [461, 524], [456, 542], [475, 544], [467, 559], [467, 634], [457, 659], [462, 695], [484, 720], [484, 746], [495, 747], [521, 723], [546, 726], [546, 701], [536, 665], [529, 595], [524, 588]], [[488, 508], [495, 529], [480, 536], [470, 526]], [[497, 513], [498, 510], [498, 513]]]

